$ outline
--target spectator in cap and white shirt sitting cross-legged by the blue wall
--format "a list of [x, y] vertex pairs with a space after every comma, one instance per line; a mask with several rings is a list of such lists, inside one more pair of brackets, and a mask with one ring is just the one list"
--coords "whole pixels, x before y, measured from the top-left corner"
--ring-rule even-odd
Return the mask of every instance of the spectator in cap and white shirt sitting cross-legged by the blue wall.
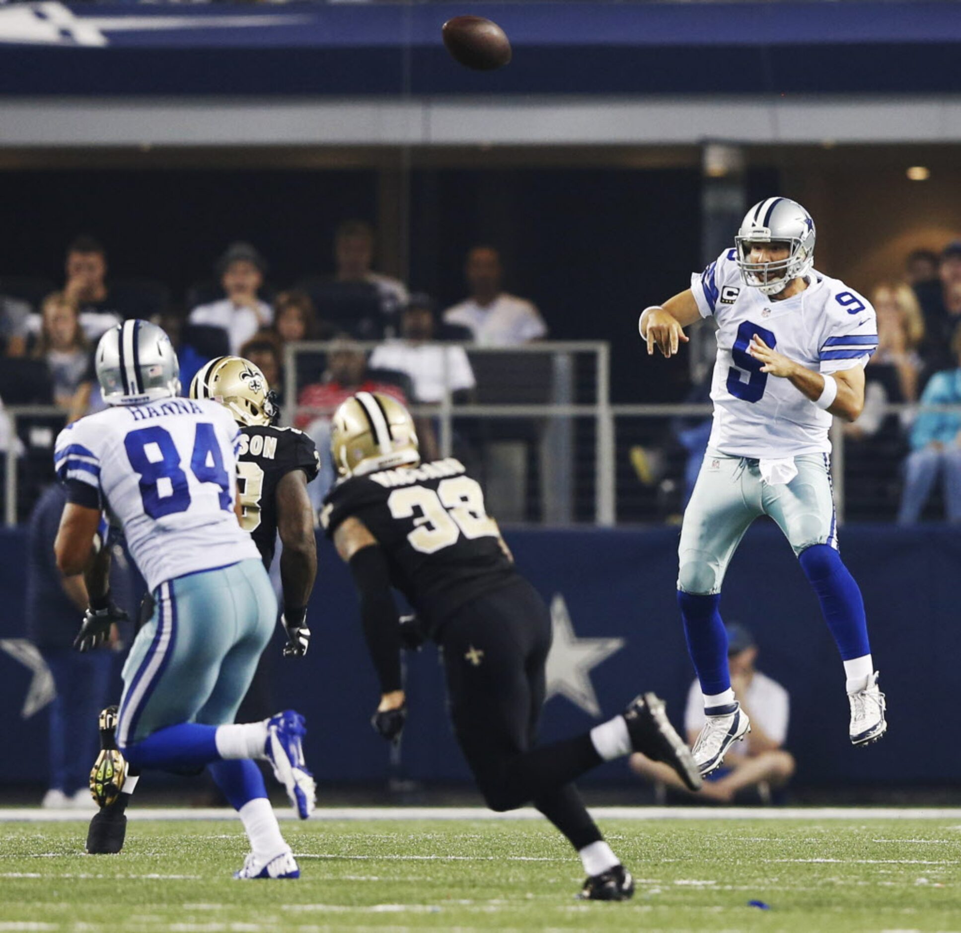
[[[751, 732], [739, 746], [727, 752], [724, 765], [708, 775], [698, 796], [730, 803], [742, 791], [756, 788], [765, 802], [773, 788], [782, 787], [794, 773], [794, 757], [783, 749], [787, 739], [790, 700], [787, 691], [754, 667], [757, 645], [752, 633], [735, 623], [727, 626], [727, 660], [730, 685], [751, 718]], [[684, 727], [693, 745], [704, 724], [701, 684], [691, 684], [687, 695]], [[645, 755], [630, 756], [631, 770], [668, 787], [688, 793], [678, 775]]]

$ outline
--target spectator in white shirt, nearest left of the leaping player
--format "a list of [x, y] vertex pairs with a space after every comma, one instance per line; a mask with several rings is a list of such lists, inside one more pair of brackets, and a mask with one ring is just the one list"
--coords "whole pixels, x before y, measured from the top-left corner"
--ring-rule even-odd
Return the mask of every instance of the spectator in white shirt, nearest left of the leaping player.
[[468, 328], [482, 346], [510, 347], [547, 334], [537, 308], [501, 289], [504, 270], [493, 247], [475, 246], [464, 275], [470, 298], [444, 311], [444, 322]]

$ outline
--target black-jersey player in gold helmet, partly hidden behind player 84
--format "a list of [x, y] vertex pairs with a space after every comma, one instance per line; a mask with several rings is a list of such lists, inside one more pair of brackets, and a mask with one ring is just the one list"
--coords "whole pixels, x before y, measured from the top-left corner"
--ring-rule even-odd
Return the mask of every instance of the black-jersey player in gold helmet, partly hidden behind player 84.
[[[239, 356], [219, 356], [190, 383], [191, 399], [213, 399], [230, 409], [240, 426], [237, 493], [240, 525], [250, 531], [264, 567], [270, 568], [281, 539], [281, 582], [286, 632], [284, 656], [303, 657], [310, 643], [307, 604], [317, 573], [313, 508], [307, 484], [317, 476], [320, 456], [303, 431], [279, 428], [277, 406], [257, 366]], [[86, 850], [118, 852], [126, 831], [124, 810], [136, 774], [113, 741], [116, 707], [100, 714], [101, 751], [90, 774], [90, 789], [101, 805], [90, 821]], [[122, 792], [121, 792], [122, 788]]]

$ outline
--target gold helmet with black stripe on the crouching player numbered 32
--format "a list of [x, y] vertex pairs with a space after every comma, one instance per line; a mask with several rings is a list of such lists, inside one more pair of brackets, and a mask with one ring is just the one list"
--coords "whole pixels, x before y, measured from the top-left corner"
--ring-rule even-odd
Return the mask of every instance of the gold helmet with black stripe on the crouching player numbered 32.
[[341, 477], [420, 463], [410, 412], [381, 392], [357, 392], [333, 413], [331, 454]]

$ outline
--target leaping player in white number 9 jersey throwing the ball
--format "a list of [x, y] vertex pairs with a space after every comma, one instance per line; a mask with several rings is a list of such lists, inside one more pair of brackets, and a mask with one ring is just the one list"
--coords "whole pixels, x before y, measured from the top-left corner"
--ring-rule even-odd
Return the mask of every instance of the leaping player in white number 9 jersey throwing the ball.
[[754, 205], [691, 287], [647, 307], [639, 330], [674, 356], [683, 329], [717, 322], [711, 384], [714, 426], [680, 533], [678, 603], [707, 720], [694, 745], [702, 774], [721, 765], [751, 728], [727, 671], [721, 584], [755, 518], [784, 532], [821, 602], [847, 675], [850, 741], [884, 734], [864, 602], [838, 553], [830, 483], [831, 415], [854, 421], [864, 366], [877, 347], [875, 310], [844, 282], [813, 268], [814, 221], [788, 198]]

